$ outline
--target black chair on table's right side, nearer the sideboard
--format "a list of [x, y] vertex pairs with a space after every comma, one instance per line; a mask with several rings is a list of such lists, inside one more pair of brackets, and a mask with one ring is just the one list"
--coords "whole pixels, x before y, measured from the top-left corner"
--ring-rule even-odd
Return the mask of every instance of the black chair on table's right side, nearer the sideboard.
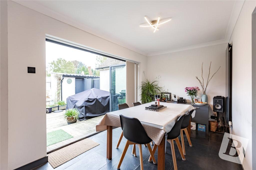
[[189, 143], [189, 146], [192, 147], [192, 143], [190, 141], [190, 138], [189, 138], [189, 135], [188, 135], [188, 130], [187, 130], [187, 127], [189, 125], [189, 120], [190, 120], [190, 117], [192, 115], [192, 113], [196, 110], [193, 109], [191, 111], [189, 111], [189, 114], [186, 115], [182, 121], [182, 124], [181, 124], [181, 129], [180, 129], [180, 138], [181, 138], [181, 144], [182, 144], [182, 150], [183, 150], [183, 154], [186, 155], [186, 152], [185, 152], [185, 144], [184, 144], [184, 137], [183, 137], [183, 130], [185, 131], [185, 134], [186, 134], [186, 137], [188, 139], [188, 143]]

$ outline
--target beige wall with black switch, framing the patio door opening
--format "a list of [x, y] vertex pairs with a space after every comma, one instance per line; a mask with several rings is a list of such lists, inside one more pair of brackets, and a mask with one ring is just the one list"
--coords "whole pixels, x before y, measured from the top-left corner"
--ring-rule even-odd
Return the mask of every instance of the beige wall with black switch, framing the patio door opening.
[[[46, 156], [46, 34], [139, 62], [140, 81], [146, 70], [145, 56], [8, 1], [9, 169]], [[36, 74], [28, 74], [28, 66]]]

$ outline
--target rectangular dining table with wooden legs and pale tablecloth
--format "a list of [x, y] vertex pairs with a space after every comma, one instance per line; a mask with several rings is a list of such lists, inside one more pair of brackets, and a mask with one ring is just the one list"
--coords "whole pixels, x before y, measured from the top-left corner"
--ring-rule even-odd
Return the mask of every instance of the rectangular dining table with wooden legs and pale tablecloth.
[[[154, 103], [155, 102], [150, 102], [129, 107], [126, 109], [109, 112], [104, 115], [98, 125], [96, 125], [96, 131], [107, 130], [107, 159], [112, 159], [112, 129], [113, 127], [121, 127], [121, 114], [127, 117], [135, 117], [140, 120], [147, 135], [158, 147], [157, 169], [165, 169], [165, 134], [172, 130], [178, 117], [188, 114], [189, 111], [194, 110], [194, 107], [189, 104], [161, 103], [166, 106], [166, 108], [159, 112], [145, 110], [145, 107]], [[190, 125], [188, 127], [188, 132], [190, 133]]]

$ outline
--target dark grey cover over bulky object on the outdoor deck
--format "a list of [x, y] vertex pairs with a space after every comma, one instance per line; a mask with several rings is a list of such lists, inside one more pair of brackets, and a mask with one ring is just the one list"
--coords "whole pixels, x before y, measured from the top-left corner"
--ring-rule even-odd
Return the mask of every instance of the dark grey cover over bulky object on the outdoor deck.
[[86, 120], [109, 112], [109, 92], [89, 89], [67, 98], [67, 108], [77, 108], [81, 113], [78, 120]]

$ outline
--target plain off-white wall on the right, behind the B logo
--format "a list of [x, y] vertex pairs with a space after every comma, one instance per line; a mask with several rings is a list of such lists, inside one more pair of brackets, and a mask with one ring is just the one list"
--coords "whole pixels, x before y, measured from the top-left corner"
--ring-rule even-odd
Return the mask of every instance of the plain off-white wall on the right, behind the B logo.
[[[252, 11], [255, 1], [245, 1], [232, 43], [232, 126], [233, 134], [249, 139], [243, 160], [244, 169], [252, 169]], [[255, 73], [254, 73], [255, 74]], [[242, 99], [248, 99], [241, 102]], [[255, 123], [255, 122], [254, 122]], [[254, 141], [255, 142], [255, 141]], [[254, 143], [255, 144], [255, 143]], [[255, 160], [253, 160], [255, 161]]]

